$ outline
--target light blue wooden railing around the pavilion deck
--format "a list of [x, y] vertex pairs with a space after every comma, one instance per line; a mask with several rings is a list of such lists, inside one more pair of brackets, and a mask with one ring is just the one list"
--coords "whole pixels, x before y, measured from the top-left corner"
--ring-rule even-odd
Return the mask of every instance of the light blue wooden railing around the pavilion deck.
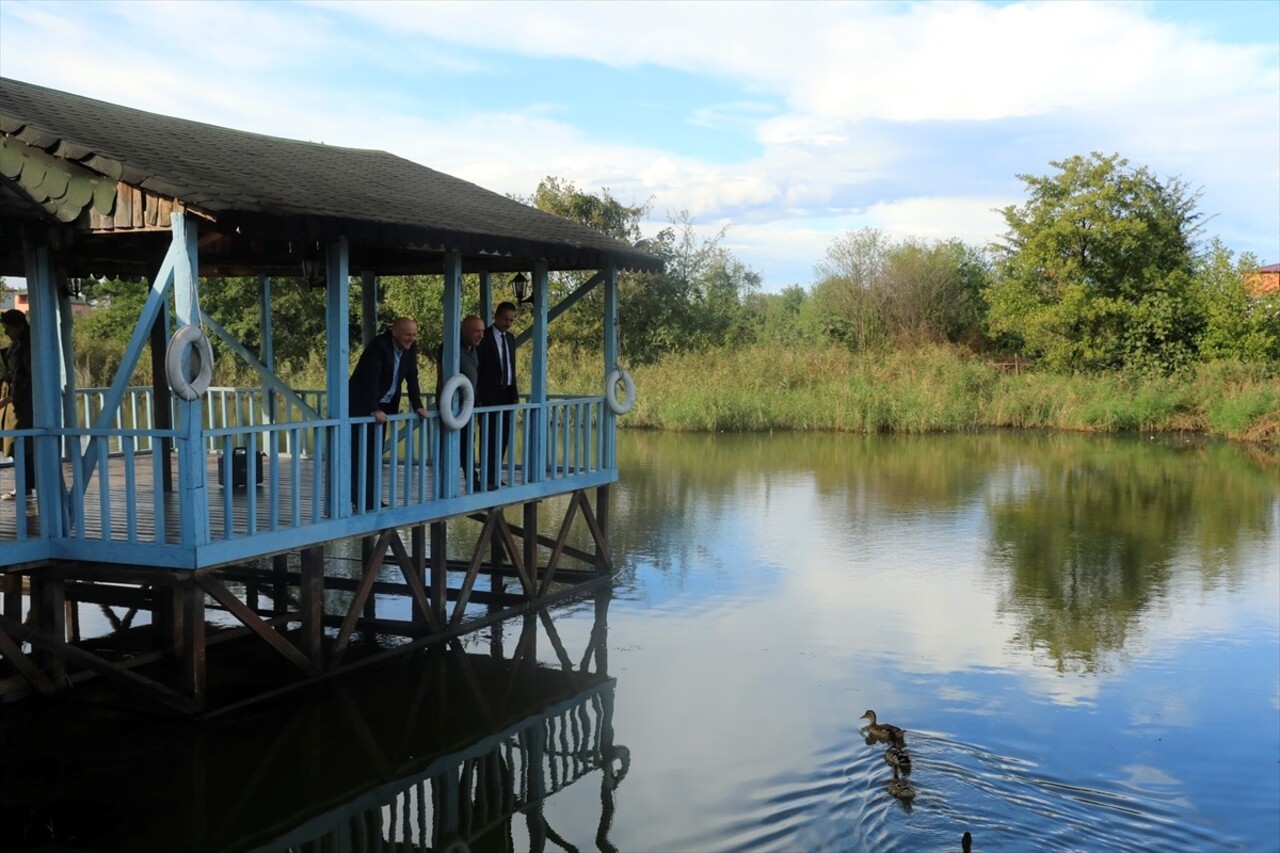
[[[440, 453], [440, 420], [433, 410], [425, 419], [413, 414], [388, 418], [387, 430], [356, 430], [352, 447], [352, 465], [356, 467], [353, 493], [364, 494], [364, 484], [374, 480], [376, 494], [388, 506], [362, 507], [353, 511], [335, 511], [333, 503], [338, 491], [338, 478], [351, 478], [351, 471], [338, 470], [334, 448], [339, 430], [349, 425], [370, 424], [371, 418], [349, 421], [316, 419], [311, 412], [273, 393], [264, 400], [261, 388], [211, 388], [202, 401], [204, 443], [202, 457], [183, 453], [156, 453], [163, 443], [177, 447], [187, 434], [180, 425], [180, 410], [174, 407], [173, 428], [160, 429], [154, 424], [151, 389], [129, 388], [108, 426], [93, 428], [101, 415], [106, 389], [78, 389], [76, 397], [77, 424], [60, 429], [0, 430], [0, 438], [13, 439], [12, 456], [0, 459], [0, 485], [15, 488], [29, 482], [23, 450], [32, 443], [38, 452], [47, 453], [45, 442], [55, 442], [63, 460], [63, 487], [67, 500], [61, 506], [60, 524], [56, 519], [37, 517], [23, 508], [35, 505], [19, 500], [9, 506], [19, 507], [13, 528], [3, 524], [0, 516], [0, 542], [10, 540], [35, 546], [38, 539], [68, 542], [109, 542], [122, 547], [191, 548], [202, 544], [192, 540], [191, 530], [179, 529], [182, 512], [175, 514], [173, 496], [166, 496], [161, 485], [170, 483], [179, 492], [178, 501], [193, 501], [193, 512], [210, 519], [210, 543], [243, 540], [264, 534], [297, 532], [301, 528], [334, 524], [384, 510], [401, 510], [447, 496], [470, 498], [485, 493], [490, 482], [500, 482], [499, 488], [535, 487], [539, 494], [572, 488], [564, 480], [584, 474], [599, 474], [605, 469], [607, 430], [603, 397], [557, 396], [541, 405], [522, 401], [511, 406], [476, 409], [471, 423], [472, 442], [463, 447], [463, 470], [472, 476], [461, 476], [454, 489], [447, 487], [447, 478], [436, 475]], [[274, 397], [274, 398], [273, 398]], [[312, 412], [324, 411], [324, 392], [302, 391], [297, 398]], [[502, 464], [500, 476], [492, 476], [485, 448], [489, 437], [506, 415], [511, 424], [508, 452]], [[384, 465], [366, 470], [366, 455], [361, 443], [366, 435], [378, 443], [375, 457]], [[384, 439], [385, 435], [385, 439]], [[545, 457], [538, 464], [531, 457], [535, 448], [545, 447]], [[45, 448], [45, 450], [41, 450]], [[230, 466], [236, 448], [244, 448], [252, 488], [218, 488], [218, 465], [221, 460]], [[255, 460], [264, 453], [261, 485], [255, 483]], [[182, 493], [180, 483], [198, 483], [195, 471], [183, 470], [191, 462], [204, 459], [207, 488], [198, 494]], [[172, 465], [165, 478], [165, 465]], [[384, 474], [385, 473], [385, 474]], [[388, 482], [384, 480], [388, 476]], [[229, 479], [232, 473], [224, 474]], [[113, 479], [114, 478], [114, 479]], [[557, 488], [558, 482], [564, 482]], [[20, 491], [20, 489], [19, 489]], [[529, 494], [529, 489], [524, 494]], [[490, 501], [492, 502], [492, 501]], [[481, 501], [483, 503], [483, 501]], [[472, 502], [458, 511], [479, 506]], [[186, 505], [183, 505], [186, 506]], [[340, 508], [338, 508], [340, 510]], [[45, 510], [41, 510], [45, 511]], [[192, 517], [192, 516], [188, 516]], [[37, 533], [37, 529], [41, 530]], [[12, 532], [10, 532], [12, 530]], [[289, 542], [282, 539], [282, 547]], [[19, 553], [17, 547], [0, 548], [0, 565], [31, 558], [37, 551]], [[12, 556], [10, 556], [12, 555]], [[150, 562], [138, 551], [136, 558]]]

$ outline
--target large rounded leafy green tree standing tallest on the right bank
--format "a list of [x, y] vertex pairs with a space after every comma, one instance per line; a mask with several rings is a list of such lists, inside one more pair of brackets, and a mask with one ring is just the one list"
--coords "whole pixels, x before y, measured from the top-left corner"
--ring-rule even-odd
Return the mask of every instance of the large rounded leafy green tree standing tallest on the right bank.
[[1199, 193], [1119, 155], [1051, 165], [1019, 175], [1029, 199], [1002, 211], [989, 330], [1055, 369], [1185, 364], [1202, 328], [1188, 278]]

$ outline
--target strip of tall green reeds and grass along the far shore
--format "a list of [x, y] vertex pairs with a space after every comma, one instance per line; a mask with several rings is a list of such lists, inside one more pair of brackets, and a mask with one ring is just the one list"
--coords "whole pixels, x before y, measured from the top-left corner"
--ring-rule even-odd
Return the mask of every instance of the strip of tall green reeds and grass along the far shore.
[[[598, 355], [553, 347], [556, 393], [599, 393]], [[760, 345], [630, 368], [628, 429], [1203, 433], [1280, 447], [1280, 371], [1217, 361], [1171, 377], [1061, 375], [952, 346], [852, 352]]]

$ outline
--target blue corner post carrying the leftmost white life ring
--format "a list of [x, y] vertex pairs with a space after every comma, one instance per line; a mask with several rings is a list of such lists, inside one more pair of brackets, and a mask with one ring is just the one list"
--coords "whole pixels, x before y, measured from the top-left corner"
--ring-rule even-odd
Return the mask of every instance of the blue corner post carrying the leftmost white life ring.
[[[200, 324], [200, 264], [195, 223], [173, 214], [173, 245], [180, 260], [173, 268], [173, 302], [177, 327]], [[189, 357], [189, 356], [188, 356]], [[178, 400], [178, 517], [182, 544], [209, 544], [209, 483], [205, 475], [204, 401]], [[228, 460], [228, 465], [230, 460]]]

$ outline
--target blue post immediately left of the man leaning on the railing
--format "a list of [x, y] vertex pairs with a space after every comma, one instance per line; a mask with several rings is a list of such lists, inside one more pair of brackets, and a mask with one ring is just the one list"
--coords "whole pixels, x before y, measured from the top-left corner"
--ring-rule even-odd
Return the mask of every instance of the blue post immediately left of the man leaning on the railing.
[[[347, 392], [347, 370], [351, 366], [351, 342], [347, 339], [347, 321], [351, 316], [351, 279], [348, 274], [349, 250], [346, 237], [330, 242], [325, 250], [325, 333], [329, 348], [325, 355], [325, 393], [330, 420], [342, 420], [338, 434], [330, 442], [335, 452], [329, 453], [325, 502], [329, 517], [351, 512], [351, 418]], [[369, 471], [369, 476], [374, 473]]]

